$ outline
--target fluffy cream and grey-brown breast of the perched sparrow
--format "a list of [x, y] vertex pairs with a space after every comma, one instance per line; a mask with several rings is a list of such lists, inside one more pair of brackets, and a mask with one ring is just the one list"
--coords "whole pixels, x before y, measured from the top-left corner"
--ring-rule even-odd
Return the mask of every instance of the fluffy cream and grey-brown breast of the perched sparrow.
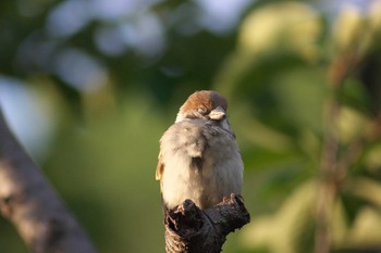
[[217, 124], [182, 121], [161, 142], [162, 194], [167, 207], [193, 200], [200, 208], [241, 193], [243, 163], [234, 134]]

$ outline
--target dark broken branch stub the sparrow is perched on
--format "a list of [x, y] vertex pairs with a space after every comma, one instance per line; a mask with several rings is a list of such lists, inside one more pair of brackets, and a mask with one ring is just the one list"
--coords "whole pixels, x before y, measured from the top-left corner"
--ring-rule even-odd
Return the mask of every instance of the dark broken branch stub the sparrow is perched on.
[[167, 253], [218, 253], [226, 236], [250, 222], [242, 199], [232, 194], [221, 203], [200, 210], [186, 200], [164, 212]]

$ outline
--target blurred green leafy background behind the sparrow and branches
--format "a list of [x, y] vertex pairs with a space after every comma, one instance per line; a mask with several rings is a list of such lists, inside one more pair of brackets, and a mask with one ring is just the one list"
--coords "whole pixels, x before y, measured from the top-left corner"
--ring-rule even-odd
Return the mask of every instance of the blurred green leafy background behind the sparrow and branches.
[[380, 252], [380, 35], [379, 0], [2, 0], [0, 104], [101, 253], [164, 252], [158, 141], [199, 89], [245, 162], [224, 252]]

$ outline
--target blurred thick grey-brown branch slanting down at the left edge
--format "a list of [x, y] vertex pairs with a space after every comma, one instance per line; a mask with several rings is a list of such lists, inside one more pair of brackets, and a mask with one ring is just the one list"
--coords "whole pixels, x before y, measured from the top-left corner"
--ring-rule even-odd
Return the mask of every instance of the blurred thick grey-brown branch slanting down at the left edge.
[[40, 169], [19, 144], [0, 110], [0, 212], [35, 253], [96, 250]]

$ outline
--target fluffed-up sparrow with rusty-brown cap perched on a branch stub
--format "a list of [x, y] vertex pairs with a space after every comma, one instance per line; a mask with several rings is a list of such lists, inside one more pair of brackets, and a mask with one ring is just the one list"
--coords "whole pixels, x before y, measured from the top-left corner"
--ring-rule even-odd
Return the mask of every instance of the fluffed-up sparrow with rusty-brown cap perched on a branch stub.
[[205, 210], [242, 193], [244, 164], [226, 110], [217, 91], [196, 91], [161, 137], [156, 179], [164, 208], [189, 199]]

